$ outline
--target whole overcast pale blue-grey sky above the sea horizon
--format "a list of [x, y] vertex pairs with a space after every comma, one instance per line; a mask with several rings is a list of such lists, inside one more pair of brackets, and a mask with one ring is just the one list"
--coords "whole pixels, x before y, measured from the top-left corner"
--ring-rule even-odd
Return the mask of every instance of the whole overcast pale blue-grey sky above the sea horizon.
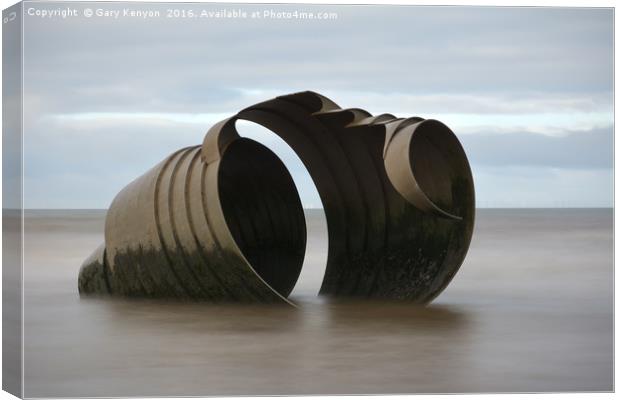
[[[181, 5], [327, 11], [336, 20], [25, 16], [25, 206], [107, 208], [215, 122], [314, 90], [342, 107], [437, 118], [469, 157], [479, 207], [613, 202], [610, 9]], [[54, 10], [58, 3], [26, 3]], [[66, 7], [66, 6], [65, 6]], [[288, 163], [275, 135], [243, 124]]]

